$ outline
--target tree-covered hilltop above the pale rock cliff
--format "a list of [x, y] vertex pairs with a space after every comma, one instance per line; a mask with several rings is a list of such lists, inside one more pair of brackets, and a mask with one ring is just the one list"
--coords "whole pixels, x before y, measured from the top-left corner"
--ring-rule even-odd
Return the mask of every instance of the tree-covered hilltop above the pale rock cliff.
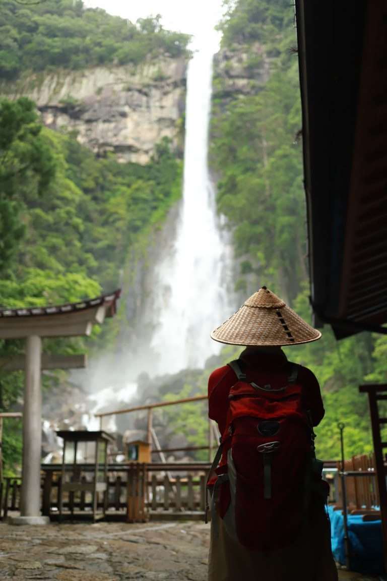
[[160, 16], [136, 24], [82, 0], [22, 5], [0, 0], [0, 77], [24, 70], [81, 69], [106, 63], [139, 64], [186, 52], [189, 36], [164, 30]]

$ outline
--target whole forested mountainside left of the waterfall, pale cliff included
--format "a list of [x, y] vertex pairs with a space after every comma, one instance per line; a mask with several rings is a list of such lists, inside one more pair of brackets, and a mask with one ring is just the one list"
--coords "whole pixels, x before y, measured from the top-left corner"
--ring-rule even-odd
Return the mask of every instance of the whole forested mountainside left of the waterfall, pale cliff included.
[[[130, 277], [181, 194], [189, 37], [165, 31], [158, 19], [132, 24], [72, 0], [27, 8], [1, 0], [0, 8], [0, 305], [73, 302], [109, 292]], [[106, 84], [107, 71], [113, 84]], [[167, 78], [168, 71], [176, 78]], [[39, 112], [27, 97], [43, 98], [48, 87]], [[164, 110], [159, 125], [157, 107]], [[93, 119], [82, 119], [92, 111]], [[155, 117], [151, 135], [144, 130], [147, 114]], [[138, 139], [137, 150], [128, 151], [141, 163], [113, 153], [109, 137], [122, 129], [117, 118]], [[82, 139], [82, 124], [104, 135], [103, 148], [88, 135]], [[123, 300], [102, 333], [95, 329], [89, 352], [114, 349], [125, 309]], [[85, 348], [83, 339], [44, 340], [45, 352]], [[2, 341], [0, 357], [23, 349], [22, 341]], [[44, 400], [53, 389], [68, 393], [66, 373], [43, 379]], [[0, 410], [20, 405], [22, 392], [22, 375], [0, 370]], [[6, 472], [19, 461], [20, 436], [17, 422], [6, 426]]]

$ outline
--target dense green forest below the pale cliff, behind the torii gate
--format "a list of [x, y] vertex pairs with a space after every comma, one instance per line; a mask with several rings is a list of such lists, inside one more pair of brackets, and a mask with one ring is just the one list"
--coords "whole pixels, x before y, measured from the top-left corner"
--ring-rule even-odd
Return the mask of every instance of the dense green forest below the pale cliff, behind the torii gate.
[[[128, 249], [180, 195], [182, 164], [168, 139], [146, 166], [97, 159], [73, 135], [42, 127], [24, 98], [0, 101], [0, 135], [0, 305], [73, 302], [117, 288]], [[111, 342], [116, 331], [104, 326]], [[0, 357], [20, 352], [21, 343], [0, 342]], [[45, 343], [47, 352], [82, 347], [81, 339]], [[46, 385], [55, 381], [51, 375]], [[21, 374], [0, 374], [0, 410], [21, 389]], [[19, 447], [5, 440], [6, 462]]]

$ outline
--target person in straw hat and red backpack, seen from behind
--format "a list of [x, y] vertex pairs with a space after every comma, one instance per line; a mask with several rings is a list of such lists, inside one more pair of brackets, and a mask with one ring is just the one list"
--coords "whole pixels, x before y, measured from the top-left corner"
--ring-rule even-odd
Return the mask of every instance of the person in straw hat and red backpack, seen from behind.
[[211, 337], [245, 350], [208, 381], [221, 434], [207, 483], [208, 581], [337, 581], [329, 485], [314, 453], [320, 387], [281, 349], [321, 333], [263, 286]]

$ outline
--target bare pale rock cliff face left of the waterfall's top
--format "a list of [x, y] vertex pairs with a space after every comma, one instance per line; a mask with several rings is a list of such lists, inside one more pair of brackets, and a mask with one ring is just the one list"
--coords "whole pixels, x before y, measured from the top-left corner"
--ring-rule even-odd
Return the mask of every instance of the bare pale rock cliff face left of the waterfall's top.
[[55, 71], [1, 83], [8, 98], [35, 101], [45, 125], [77, 133], [97, 155], [147, 163], [163, 137], [181, 146], [186, 59], [159, 58], [132, 66]]

